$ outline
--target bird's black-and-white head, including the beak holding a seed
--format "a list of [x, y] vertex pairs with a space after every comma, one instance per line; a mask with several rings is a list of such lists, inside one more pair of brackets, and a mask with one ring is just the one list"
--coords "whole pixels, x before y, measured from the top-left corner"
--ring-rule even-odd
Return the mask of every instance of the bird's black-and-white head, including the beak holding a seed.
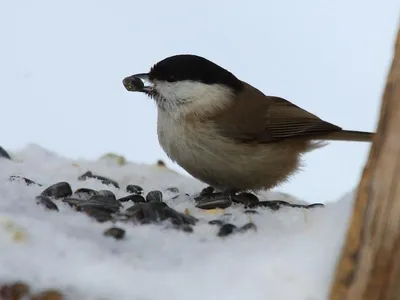
[[165, 58], [148, 73], [126, 77], [123, 84], [128, 91], [153, 98], [160, 110], [174, 114], [226, 105], [243, 88], [242, 81], [231, 72], [189, 54]]

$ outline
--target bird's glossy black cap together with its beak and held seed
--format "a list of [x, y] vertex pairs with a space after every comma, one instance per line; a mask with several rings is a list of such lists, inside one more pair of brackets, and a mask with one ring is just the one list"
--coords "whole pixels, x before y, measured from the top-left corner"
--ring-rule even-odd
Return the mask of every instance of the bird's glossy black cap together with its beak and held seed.
[[[136, 78], [136, 79], [135, 79]], [[151, 83], [191, 81], [202, 84], [220, 84], [233, 91], [242, 88], [242, 82], [231, 72], [201, 56], [179, 54], [167, 57], [156, 63], [149, 73], [140, 73], [124, 79], [124, 86], [129, 91], [150, 92], [150, 86], [140, 86], [134, 82], [137, 78]], [[132, 88], [135, 86], [135, 88]]]

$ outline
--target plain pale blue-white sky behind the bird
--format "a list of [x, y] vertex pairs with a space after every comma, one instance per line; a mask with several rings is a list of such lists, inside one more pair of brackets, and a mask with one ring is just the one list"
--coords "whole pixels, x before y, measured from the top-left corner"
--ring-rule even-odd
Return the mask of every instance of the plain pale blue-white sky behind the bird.
[[[0, 0], [0, 145], [171, 165], [154, 103], [122, 79], [177, 53], [343, 128], [374, 131], [399, 9], [398, 0]], [[331, 143], [278, 190], [333, 200], [358, 183], [368, 150]]]

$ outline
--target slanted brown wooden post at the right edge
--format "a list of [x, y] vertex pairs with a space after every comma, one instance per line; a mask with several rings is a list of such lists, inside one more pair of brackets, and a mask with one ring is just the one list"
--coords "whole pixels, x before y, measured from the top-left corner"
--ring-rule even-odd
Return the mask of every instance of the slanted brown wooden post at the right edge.
[[330, 300], [400, 300], [400, 28]]

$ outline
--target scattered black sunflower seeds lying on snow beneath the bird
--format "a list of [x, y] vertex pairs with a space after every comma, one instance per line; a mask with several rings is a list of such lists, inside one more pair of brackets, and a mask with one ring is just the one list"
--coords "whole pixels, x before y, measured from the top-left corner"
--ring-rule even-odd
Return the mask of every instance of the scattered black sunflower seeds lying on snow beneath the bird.
[[[107, 177], [93, 174], [87, 171], [78, 177], [78, 180], [84, 181], [88, 178], [94, 178], [101, 181], [106, 186], [112, 186], [120, 189], [118, 182]], [[43, 186], [29, 178], [13, 175], [9, 178], [10, 181], [19, 181], [26, 185]], [[139, 185], [130, 184], [125, 187], [127, 196], [117, 198], [116, 195], [108, 189], [93, 190], [89, 188], [80, 188], [72, 190], [68, 182], [57, 182], [45, 188], [40, 195], [35, 197], [38, 205], [44, 206], [48, 210], [58, 211], [57, 202], [67, 203], [77, 212], [84, 213], [87, 216], [95, 219], [98, 222], [111, 221], [133, 223], [135, 225], [144, 224], [160, 224], [167, 225], [168, 228], [182, 230], [184, 232], [193, 232], [193, 226], [197, 224], [199, 219], [191, 216], [188, 213], [178, 212], [171, 208], [165, 201], [164, 195], [159, 190], [152, 190], [144, 193], [143, 188]], [[176, 187], [170, 187], [168, 192], [179, 193]], [[179, 195], [174, 198], [179, 197]], [[173, 198], [173, 199], [174, 199]], [[252, 193], [242, 192], [238, 194], [229, 194], [215, 192], [213, 188], [207, 187], [203, 189], [199, 195], [193, 198], [196, 202], [196, 207], [203, 210], [224, 209], [232, 205], [241, 205], [246, 210], [246, 214], [256, 214], [254, 208], [267, 207], [272, 210], [278, 210], [282, 206], [299, 207], [309, 209], [322, 204], [312, 205], [297, 205], [290, 204], [285, 201], [260, 201], [258, 197]], [[127, 208], [123, 203], [131, 204]], [[225, 237], [232, 233], [244, 233], [248, 230], [256, 230], [253, 223], [245, 224], [242, 227], [237, 227], [234, 224], [224, 222], [223, 220], [212, 220], [211, 225], [219, 226], [217, 235]], [[123, 239], [125, 231], [119, 227], [111, 227], [104, 232], [105, 236], [110, 236], [115, 239]]]

